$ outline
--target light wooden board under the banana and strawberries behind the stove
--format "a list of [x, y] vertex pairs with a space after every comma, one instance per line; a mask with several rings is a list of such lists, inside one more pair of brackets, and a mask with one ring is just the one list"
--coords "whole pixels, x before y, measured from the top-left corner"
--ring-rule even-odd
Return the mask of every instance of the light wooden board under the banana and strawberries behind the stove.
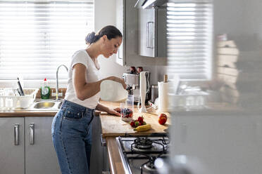
[[[120, 105], [120, 103], [117, 102], [102, 102], [102, 103], [111, 108], [119, 107]], [[133, 119], [137, 119], [138, 116], [143, 116], [144, 121], [146, 121], [146, 123], [151, 124], [152, 127], [151, 130], [145, 132], [133, 131], [134, 128], [130, 126], [130, 123], [122, 121], [120, 119], [120, 116], [114, 116], [102, 112], [100, 114], [100, 119], [101, 119], [103, 137], [117, 137], [126, 134], [149, 135], [151, 133], [166, 133], [166, 130], [170, 125], [170, 114], [165, 113], [168, 116], [168, 121], [166, 122], [166, 124], [161, 125], [158, 123], [158, 114], [156, 114], [156, 112], [151, 111], [148, 113], [138, 113], [136, 108], [134, 110], [135, 111], [134, 111]]]

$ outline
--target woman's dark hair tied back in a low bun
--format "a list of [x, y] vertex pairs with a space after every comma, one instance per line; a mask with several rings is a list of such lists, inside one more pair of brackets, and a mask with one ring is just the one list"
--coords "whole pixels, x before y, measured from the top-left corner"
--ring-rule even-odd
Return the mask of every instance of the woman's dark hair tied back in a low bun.
[[108, 25], [100, 29], [98, 34], [96, 34], [95, 32], [91, 32], [87, 34], [87, 36], [85, 37], [85, 42], [88, 45], [91, 45], [95, 43], [96, 41], [98, 41], [100, 37], [104, 35], [106, 35], [109, 40], [111, 40], [112, 38], [123, 37], [119, 29], [117, 29], [113, 25]]

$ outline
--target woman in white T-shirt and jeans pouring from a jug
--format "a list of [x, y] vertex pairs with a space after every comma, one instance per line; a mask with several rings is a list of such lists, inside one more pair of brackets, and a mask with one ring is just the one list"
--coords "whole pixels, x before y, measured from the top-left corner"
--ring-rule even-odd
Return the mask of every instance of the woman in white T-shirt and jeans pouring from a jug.
[[122, 39], [116, 27], [106, 26], [98, 34], [88, 34], [87, 49], [75, 52], [72, 57], [65, 100], [52, 123], [52, 139], [63, 174], [89, 173], [94, 109], [120, 116], [99, 103], [100, 84], [113, 80], [126, 88], [125, 82], [116, 76], [99, 80], [97, 57], [116, 54]]

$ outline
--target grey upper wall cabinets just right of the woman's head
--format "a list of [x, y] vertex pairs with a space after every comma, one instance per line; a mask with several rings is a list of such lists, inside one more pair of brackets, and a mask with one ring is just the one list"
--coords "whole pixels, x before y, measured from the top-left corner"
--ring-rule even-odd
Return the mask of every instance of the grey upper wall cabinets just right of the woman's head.
[[[143, 13], [139, 13], [140, 9], [134, 7], [135, 3], [133, 0], [116, 0], [116, 27], [123, 34], [123, 43], [118, 50], [116, 62], [125, 66], [166, 65], [166, 31], [162, 30], [162, 34], [165, 34], [161, 36], [165, 44], [158, 44], [161, 39], [158, 39], [159, 36], [156, 38], [157, 33], [161, 31], [157, 26], [163, 21], [156, 25], [155, 22], [152, 24], [152, 20], [147, 22], [141, 20], [143, 16], [143, 18], [152, 17], [156, 21], [157, 15], [161, 12], [156, 12], [155, 9], [148, 12], [146, 9]], [[142, 26], [142, 23], [145, 25]], [[142, 40], [145, 42], [141, 42]], [[147, 53], [143, 51], [143, 46], [150, 47]]]

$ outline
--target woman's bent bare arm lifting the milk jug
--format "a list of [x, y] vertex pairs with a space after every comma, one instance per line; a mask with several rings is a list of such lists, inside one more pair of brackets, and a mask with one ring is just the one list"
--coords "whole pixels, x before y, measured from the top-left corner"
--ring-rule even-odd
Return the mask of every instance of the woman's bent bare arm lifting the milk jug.
[[106, 79], [101, 79], [96, 82], [87, 83], [86, 73], [87, 68], [85, 65], [77, 63], [73, 67], [73, 86], [75, 88], [75, 93], [79, 100], [86, 100], [96, 95], [100, 91], [100, 84], [104, 80], [117, 81], [123, 85], [123, 88], [126, 88], [126, 84], [123, 79], [120, 79], [116, 76], [109, 76]]

